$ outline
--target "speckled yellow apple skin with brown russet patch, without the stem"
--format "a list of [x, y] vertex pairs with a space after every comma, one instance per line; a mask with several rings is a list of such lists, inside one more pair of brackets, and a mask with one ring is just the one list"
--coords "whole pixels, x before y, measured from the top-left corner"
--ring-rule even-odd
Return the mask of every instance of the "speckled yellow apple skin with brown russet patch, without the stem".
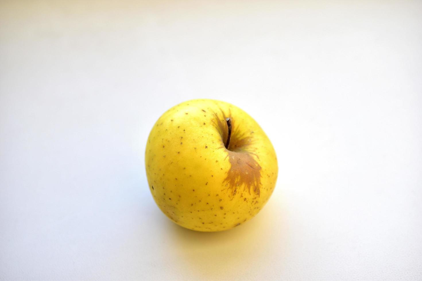
[[[232, 122], [228, 149], [226, 118]], [[276, 153], [262, 128], [227, 102], [197, 99], [165, 112], [145, 153], [149, 189], [182, 227], [221, 231], [254, 217], [276, 185]]]

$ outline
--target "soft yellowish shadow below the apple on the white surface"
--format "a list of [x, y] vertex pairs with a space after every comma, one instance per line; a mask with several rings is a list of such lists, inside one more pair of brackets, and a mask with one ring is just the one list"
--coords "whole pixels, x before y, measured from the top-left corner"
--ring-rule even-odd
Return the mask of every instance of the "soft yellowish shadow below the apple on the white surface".
[[189, 272], [184, 279], [234, 280], [252, 268], [259, 271], [277, 239], [272, 230], [280, 217], [275, 217], [279, 211], [274, 214], [273, 208], [276, 205], [269, 204], [251, 220], [221, 232], [188, 230], [168, 221], [173, 254], [181, 259], [181, 271]]

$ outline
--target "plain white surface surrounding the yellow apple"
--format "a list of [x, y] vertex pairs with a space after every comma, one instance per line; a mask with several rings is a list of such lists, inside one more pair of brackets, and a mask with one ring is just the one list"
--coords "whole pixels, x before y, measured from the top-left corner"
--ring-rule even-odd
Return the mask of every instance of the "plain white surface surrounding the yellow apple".
[[[421, 1], [0, 2], [0, 279], [421, 280]], [[146, 139], [195, 98], [249, 112], [279, 179], [185, 230]]]

